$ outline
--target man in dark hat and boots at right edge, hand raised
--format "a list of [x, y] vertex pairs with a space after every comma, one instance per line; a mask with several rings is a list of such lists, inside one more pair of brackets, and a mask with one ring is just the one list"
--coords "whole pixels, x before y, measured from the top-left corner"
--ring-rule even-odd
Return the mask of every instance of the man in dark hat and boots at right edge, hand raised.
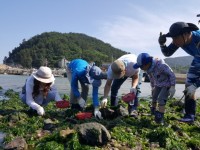
[[[172, 42], [167, 46], [167, 37]], [[180, 121], [194, 122], [196, 113], [196, 89], [200, 86], [200, 30], [193, 23], [175, 22], [167, 34], [160, 34], [158, 42], [164, 56], [172, 56], [178, 48], [182, 48], [194, 59], [187, 73], [185, 83], [185, 114]]]

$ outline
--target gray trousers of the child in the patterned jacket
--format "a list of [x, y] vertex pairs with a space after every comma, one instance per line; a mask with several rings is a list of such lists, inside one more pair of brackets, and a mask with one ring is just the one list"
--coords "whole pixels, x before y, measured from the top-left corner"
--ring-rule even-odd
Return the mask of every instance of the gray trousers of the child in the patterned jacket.
[[164, 106], [169, 96], [169, 87], [155, 87], [152, 91], [152, 103]]

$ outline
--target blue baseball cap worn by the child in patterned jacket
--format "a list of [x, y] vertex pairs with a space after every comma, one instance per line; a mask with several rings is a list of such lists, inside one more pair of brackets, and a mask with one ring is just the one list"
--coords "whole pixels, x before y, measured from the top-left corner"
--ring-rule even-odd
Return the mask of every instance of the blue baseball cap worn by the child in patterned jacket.
[[153, 58], [148, 53], [141, 53], [137, 57], [137, 63], [133, 65], [134, 69], [138, 69], [152, 62]]

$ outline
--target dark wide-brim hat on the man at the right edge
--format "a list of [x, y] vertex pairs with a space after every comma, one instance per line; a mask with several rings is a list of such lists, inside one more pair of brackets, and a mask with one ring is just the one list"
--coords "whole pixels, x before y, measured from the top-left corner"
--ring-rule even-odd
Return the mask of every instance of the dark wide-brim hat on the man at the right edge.
[[176, 37], [186, 32], [196, 31], [199, 28], [193, 23], [175, 22], [171, 25], [166, 37]]

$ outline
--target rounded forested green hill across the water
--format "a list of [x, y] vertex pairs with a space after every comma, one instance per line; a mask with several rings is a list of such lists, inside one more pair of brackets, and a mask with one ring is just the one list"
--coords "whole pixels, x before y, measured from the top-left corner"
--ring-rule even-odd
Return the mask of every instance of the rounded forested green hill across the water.
[[45, 32], [27, 41], [24, 39], [4, 58], [4, 64], [38, 68], [47, 60], [49, 67], [58, 67], [63, 58], [82, 58], [101, 65], [126, 53], [85, 34]]

